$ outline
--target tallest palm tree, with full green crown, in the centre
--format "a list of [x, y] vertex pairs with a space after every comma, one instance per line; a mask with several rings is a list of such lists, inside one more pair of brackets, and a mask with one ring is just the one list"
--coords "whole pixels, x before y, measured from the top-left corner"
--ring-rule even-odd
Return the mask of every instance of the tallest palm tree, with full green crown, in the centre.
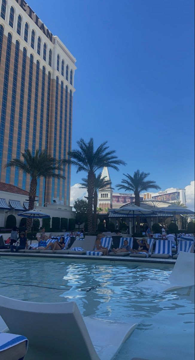
[[93, 193], [95, 172], [102, 169], [104, 166], [111, 167], [119, 171], [118, 165], [125, 165], [125, 162], [118, 159], [115, 155], [115, 150], [109, 150], [107, 141], [100, 144], [97, 149], [94, 149], [93, 138], [88, 142], [84, 139], [77, 141], [79, 149], [74, 149], [68, 152], [68, 159], [62, 159], [62, 164], [72, 164], [77, 167], [77, 173], [80, 171], [87, 172], [87, 192], [88, 192], [88, 231], [93, 230]]

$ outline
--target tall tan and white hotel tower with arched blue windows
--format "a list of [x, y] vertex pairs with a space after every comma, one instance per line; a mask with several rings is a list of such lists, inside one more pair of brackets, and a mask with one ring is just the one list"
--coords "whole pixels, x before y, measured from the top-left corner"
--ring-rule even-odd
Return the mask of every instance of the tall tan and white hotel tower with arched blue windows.
[[[0, 0], [0, 12], [0, 181], [28, 191], [29, 177], [4, 165], [24, 149], [67, 157], [76, 59], [24, 0]], [[70, 171], [38, 182], [39, 206], [69, 205]]]

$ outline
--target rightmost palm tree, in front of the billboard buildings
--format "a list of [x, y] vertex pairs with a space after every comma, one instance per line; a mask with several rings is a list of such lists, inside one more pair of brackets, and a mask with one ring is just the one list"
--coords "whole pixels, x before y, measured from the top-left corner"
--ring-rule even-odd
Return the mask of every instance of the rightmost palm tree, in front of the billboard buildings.
[[[131, 176], [129, 174], [125, 175], [125, 179], [121, 180], [121, 184], [117, 184], [116, 187], [119, 190], [125, 190], [128, 192], [134, 192], [135, 194], [135, 205], [140, 206], [140, 193], [143, 191], [148, 191], [148, 189], [161, 189], [155, 181], [146, 180], [146, 178], [150, 175], [149, 172], [140, 172], [137, 170], [134, 172], [134, 175]], [[140, 216], [136, 217], [137, 221], [137, 232], [140, 233]]]

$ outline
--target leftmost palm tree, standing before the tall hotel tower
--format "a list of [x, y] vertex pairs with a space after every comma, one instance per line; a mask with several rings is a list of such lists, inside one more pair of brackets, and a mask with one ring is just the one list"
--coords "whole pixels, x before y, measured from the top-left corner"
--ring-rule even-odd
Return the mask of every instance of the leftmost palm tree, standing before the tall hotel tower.
[[[29, 190], [29, 203], [28, 210], [33, 210], [34, 201], [37, 191], [37, 180], [40, 177], [65, 179], [61, 174], [56, 174], [55, 171], [62, 171], [62, 166], [59, 161], [47, 154], [46, 150], [36, 150], [36, 154], [33, 156], [29, 149], [24, 150], [22, 153], [23, 160], [13, 159], [8, 162], [5, 167], [17, 167], [24, 174], [28, 174], [31, 177], [31, 184]], [[27, 230], [31, 230], [32, 220], [27, 220]]]

